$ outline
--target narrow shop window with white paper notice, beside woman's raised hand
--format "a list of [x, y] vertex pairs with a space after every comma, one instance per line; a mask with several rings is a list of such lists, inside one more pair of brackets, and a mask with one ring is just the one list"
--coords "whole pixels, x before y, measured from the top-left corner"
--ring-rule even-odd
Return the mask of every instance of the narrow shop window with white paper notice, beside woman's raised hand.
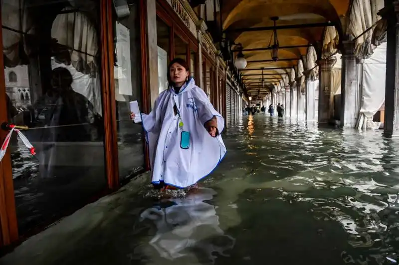
[[[117, 12], [118, 10], [125, 12]], [[130, 101], [137, 100], [139, 107], [143, 107], [139, 10], [139, 0], [127, 0], [124, 5], [116, 6], [113, 19], [120, 179], [143, 171], [145, 166], [143, 129], [141, 124], [133, 123], [129, 117]]]

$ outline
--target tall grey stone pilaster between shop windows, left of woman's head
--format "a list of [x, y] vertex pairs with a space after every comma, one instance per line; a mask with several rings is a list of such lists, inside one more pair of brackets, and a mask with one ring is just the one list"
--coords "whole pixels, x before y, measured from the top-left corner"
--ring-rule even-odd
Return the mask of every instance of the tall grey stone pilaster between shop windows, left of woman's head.
[[[157, 10], [155, 1], [147, 1], [147, 44], [148, 44], [148, 86], [152, 109], [159, 95], [158, 82], [158, 46], [157, 46]], [[147, 110], [145, 110], [147, 111]]]

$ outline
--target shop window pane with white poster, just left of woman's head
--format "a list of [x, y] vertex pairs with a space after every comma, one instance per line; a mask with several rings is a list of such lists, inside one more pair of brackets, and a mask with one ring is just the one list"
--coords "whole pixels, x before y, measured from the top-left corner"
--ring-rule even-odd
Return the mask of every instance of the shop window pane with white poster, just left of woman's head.
[[161, 93], [168, 88], [168, 64], [170, 62], [170, 27], [157, 17], [157, 45], [158, 45], [158, 83]]

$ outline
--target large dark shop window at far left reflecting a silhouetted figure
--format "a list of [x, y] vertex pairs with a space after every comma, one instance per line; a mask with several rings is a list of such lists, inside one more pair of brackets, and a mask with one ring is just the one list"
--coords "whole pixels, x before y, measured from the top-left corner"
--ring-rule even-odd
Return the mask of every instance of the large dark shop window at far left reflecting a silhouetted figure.
[[[12, 2], [12, 3], [11, 3]], [[99, 1], [1, 1], [3, 61], [30, 101], [8, 115], [36, 149], [10, 142], [19, 233], [44, 227], [107, 187], [100, 84]], [[45, 14], [45, 15], [43, 15]], [[21, 23], [23, 21], [23, 23]], [[30, 96], [27, 91], [29, 91]], [[22, 102], [23, 103], [23, 102]], [[26, 102], [25, 102], [26, 103]], [[28, 117], [28, 118], [27, 118]]]

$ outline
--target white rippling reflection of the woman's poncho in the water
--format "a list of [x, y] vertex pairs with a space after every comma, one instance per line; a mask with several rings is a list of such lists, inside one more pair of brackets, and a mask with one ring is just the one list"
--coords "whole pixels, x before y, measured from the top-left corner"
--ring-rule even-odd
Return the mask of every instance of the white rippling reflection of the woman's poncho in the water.
[[[142, 222], [150, 220], [157, 227], [149, 243], [162, 258], [207, 258], [209, 262], [215, 259], [214, 253], [226, 255], [233, 248], [235, 240], [219, 228], [215, 207], [205, 202], [215, 194], [210, 188], [199, 188], [185, 198], [170, 199], [169, 207], [154, 206], [141, 214]], [[204, 257], [195, 257], [196, 253]]]

